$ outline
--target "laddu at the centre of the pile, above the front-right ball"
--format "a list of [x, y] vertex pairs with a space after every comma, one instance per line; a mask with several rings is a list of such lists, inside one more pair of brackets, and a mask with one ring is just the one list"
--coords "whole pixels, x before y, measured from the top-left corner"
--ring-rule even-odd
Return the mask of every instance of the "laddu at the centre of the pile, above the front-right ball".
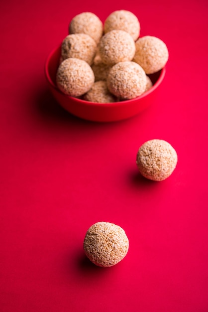
[[107, 32], [99, 43], [99, 53], [104, 64], [131, 61], [135, 55], [135, 42], [131, 35], [123, 30]]

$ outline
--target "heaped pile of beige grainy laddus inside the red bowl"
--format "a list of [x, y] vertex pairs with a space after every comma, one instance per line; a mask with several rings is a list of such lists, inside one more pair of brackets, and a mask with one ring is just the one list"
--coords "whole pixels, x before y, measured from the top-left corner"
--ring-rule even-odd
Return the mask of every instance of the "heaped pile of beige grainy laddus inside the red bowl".
[[140, 96], [152, 87], [148, 75], [166, 65], [169, 53], [161, 39], [139, 35], [140, 22], [127, 10], [113, 11], [104, 24], [92, 12], [74, 16], [61, 45], [58, 88], [97, 103]]

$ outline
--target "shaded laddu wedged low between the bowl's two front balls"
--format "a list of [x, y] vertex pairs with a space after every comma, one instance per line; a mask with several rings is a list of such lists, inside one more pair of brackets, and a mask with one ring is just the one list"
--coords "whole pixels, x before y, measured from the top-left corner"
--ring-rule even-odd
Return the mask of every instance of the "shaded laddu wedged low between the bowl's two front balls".
[[102, 80], [95, 82], [83, 98], [86, 101], [96, 103], [116, 102], [116, 97], [109, 92], [106, 81]]

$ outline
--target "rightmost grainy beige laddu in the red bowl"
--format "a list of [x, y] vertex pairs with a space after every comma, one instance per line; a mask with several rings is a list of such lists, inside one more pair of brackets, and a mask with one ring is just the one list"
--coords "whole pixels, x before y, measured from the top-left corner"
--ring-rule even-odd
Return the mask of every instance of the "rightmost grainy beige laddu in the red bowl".
[[138, 63], [146, 74], [154, 74], [162, 69], [169, 58], [166, 44], [154, 36], [140, 37], [136, 42], [133, 61]]

